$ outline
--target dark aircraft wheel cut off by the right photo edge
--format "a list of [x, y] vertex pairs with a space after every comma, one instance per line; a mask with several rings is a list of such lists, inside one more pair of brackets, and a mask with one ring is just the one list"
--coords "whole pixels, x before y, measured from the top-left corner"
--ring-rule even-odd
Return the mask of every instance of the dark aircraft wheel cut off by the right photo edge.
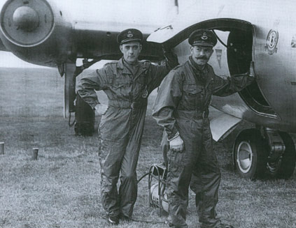
[[287, 132], [279, 132], [283, 143], [286, 146], [286, 150], [283, 153], [283, 158], [281, 159], [281, 166], [279, 167], [277, 178], [288, 179], [294, 174], [295, 163], [296, 163], [296, 150], [293, 139]]

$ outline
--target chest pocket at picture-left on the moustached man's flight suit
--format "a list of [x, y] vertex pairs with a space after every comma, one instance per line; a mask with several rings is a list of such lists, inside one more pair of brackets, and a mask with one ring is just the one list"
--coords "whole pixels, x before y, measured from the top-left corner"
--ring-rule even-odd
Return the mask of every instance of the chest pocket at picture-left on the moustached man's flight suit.
[[197, 109], [202, 106], [204, 99], [204, 87], [196, 84], [183, 85], [182, 105], [186, 109]]

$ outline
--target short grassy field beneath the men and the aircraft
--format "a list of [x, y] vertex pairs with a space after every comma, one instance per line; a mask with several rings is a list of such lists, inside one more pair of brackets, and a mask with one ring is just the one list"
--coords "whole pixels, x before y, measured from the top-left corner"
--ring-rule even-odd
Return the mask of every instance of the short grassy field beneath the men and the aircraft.
[[[57, 70], [0, 69], [0, 142], [5, 142], [0, 155], [1, 228], [108, 227], [100, 204], [97, 134], [77, 137], [68, 127], [62, 118], [62, 82]], [[250, 125], [239, 128], [244, 126]], [[296, 175], [288, 181], [240, 179], [231, 165], [238, 130], [215, 144], [223, 174], [218, 214], [234, 227], [296, 227]], [[162, 161], [161, 135], [148, 115], [138, 176]], [[39, 149], [38, 160], [31, 160], [33, 147]], [[139, 183], [134, 218], [164, 221], [148, 205], [147, 182], [143, 178]], [[188, 225], [197, 223], [190, 192]], [[118, 227], [165, 225], [132, 222]]]

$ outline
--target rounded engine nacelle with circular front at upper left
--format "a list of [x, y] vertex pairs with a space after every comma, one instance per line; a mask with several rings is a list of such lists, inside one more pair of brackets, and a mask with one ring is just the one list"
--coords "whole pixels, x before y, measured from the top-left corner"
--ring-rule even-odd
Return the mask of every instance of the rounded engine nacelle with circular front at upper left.
[[24, 61], [57, 66], [75, 53], [72, 25], [50, 1], [8, 0], [0, 21], [3, 45]]

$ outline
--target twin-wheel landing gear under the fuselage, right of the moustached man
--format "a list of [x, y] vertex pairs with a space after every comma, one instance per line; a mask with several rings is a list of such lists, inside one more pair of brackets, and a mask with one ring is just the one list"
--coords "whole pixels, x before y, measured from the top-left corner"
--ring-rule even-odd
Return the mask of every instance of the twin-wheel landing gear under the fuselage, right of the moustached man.
[[234, 167], [244, 178], [290, 178], [296, 162], [293, 139], [269, 128], [243, 130], [233, 149]]

